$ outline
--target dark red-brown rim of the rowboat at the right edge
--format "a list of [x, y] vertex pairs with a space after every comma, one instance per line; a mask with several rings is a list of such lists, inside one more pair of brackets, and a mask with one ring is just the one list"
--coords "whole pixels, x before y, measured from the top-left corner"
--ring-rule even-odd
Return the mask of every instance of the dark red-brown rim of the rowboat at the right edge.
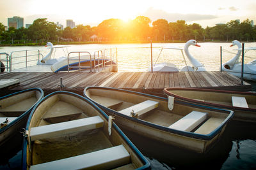
[[230, 91], [230, 90], [215, 90], [215, 89], [196, 89], [196, 88], [177, 88], [177, 87], [168, 87], [164, 88], [164, 94], [167, 96], [173, 96], [175, 99], [179, 99], [181, 101], [188, 101], [190, 103], [196, 103], [196, 104], [204, 104], [207, 106], [213, 106], [218, 108], [225, 108], [228, 110], [239, 110], [239, 111], [256, 111], [256, 108], [242, 108], [237, 106], [228, 106], [225, 104], [218, 104], [218, 103], [209, 103], [205, 101], [198, 101], [195, 99], [190, 99], [188, 97], [179, 96], [177, 94], [173, 94], [172, 92], [169, 92], [168, 90], [188, 90], [188, 91], [199, 91], [199, 92], [217, 92], [217, 93], [228, 93], [228, 94], [239, 94], [239, 95], [247, 95], [247, 96], [256, 96], [256, 93], [252, 92], [237, 92], [237, 91]]

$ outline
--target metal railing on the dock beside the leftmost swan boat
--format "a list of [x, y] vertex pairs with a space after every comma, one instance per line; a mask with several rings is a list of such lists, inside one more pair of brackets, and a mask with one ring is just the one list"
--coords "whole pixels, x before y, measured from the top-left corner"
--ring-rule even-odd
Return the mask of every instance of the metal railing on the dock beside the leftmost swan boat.
[[[33, 53], [33, 52], [35, 52], [35, 53]], [[21, 55], [19, 55], [19, 54], [21, 54]], [[17, 55], [19, 55], [19, 56], [17, 56]], [[10, 71], [12, 71], [13, 65], [16, 65], [16, 64], [19, 64], [19, 66], [20, 66], [22, 63], [24, 63], [25, 64], [24, 67], [28, 67], [29, 62], [38, 61], [38, 63], [39, 63], [40, 56], [42, 56], [42, 58], [44, 57], [42, 55], [42, 53], [40, 53], [40, 50], [21, 50], [21, 51], [12, 52], [10, 55], [10, 67], [11, 67]], [[31, 59], [33, 57], [36, 57], [36, 59]], [[13, 63], [13, 60], [16, 60], [16, 59], [20, 59], [20, 61]]]

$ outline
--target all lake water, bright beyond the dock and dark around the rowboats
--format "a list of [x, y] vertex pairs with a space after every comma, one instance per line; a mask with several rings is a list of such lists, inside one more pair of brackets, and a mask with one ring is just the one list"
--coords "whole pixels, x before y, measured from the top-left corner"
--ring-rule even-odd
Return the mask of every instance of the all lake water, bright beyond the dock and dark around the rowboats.
[[[189, 52], [204, 64], [208, 71], [218, 71], [220, 68], [220, 46], [230, 52], [236, 52], [230, 47], [231, 43], [198, 43], [200, 48], [190, 46]], [[161, 46], [184, 46], [184, 43], [153, 43], [154, 61], [161, 50]], [[256, 46], [256, 43], [245, 43], [245, 46]], [[71, 51], [89, 51], [103, 48], [115, 48], [118, 50], [118, 71], [148, 71], [150, 67], [150, 44], [124, 44], [124, 45], [70, 45]], [[11, 53], [17, 50], [39, 49], [46, 55], [49, 49], [44, 46], [19, 46], [0, 47], [0, 52]], [[168, 50], [163, 53], [159, 62], [173, 62], [175, 65], [184, 66], [184, 60], [178, 50]], [[255, 57], [255, 52], [246, 53]], [[61, 56], [60, 53], [56, 55]], [[223, 52], [223, 62], [231, 59], [235, 54]], [[252, 60], [245, 58], [245, 62]], [[253, 82], [250, 82], [253, 83]], [[253, 92], [256, 92], [256, 83], [253, 83]], [[142, 138], [132, 132], [124, 131], [138, 149], [147, 157], [152, 169], [256, 169], [256, 124], [243, 122], [230, 122], [226, 131], [217, 145], [208, 153], [202, 155], [182, 148], [176, 148], [156, 141]], [[17, 143], [17, 139], [14, 143]], [[8, 146], [0, 148], [0, 169], [20, 169], [21, 166], [21, 141], [19, 145], [12, 147], [12, 152], [3, 153]]]

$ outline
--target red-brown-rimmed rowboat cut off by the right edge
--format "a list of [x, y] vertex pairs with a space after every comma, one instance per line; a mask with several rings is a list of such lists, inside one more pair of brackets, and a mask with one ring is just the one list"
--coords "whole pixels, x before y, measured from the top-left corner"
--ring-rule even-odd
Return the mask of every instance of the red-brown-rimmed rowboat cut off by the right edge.
[[164, 93], [179, 101], [234, 111], [234, 120], [256, 122], [256, 94], [227, 90], [166, 88]]

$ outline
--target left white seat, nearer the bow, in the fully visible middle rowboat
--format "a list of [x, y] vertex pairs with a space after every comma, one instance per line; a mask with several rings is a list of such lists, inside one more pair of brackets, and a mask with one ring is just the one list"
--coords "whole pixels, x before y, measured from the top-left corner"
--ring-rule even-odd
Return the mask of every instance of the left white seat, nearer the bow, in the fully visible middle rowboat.
[[154, 108], [158, 107], [157, 101], [144, 101], [139, 104], [135, 104], [129, 108], [126, 108], [124, 110], [118, 111], [119, 113], [122, 113], [127, 116], [131, 116], [131, 112], [133, 110], [134, 113], [136, 113], [138, 116], [143, 115], [144, 113], [147, 113], [150, 110], [154, 110]]

